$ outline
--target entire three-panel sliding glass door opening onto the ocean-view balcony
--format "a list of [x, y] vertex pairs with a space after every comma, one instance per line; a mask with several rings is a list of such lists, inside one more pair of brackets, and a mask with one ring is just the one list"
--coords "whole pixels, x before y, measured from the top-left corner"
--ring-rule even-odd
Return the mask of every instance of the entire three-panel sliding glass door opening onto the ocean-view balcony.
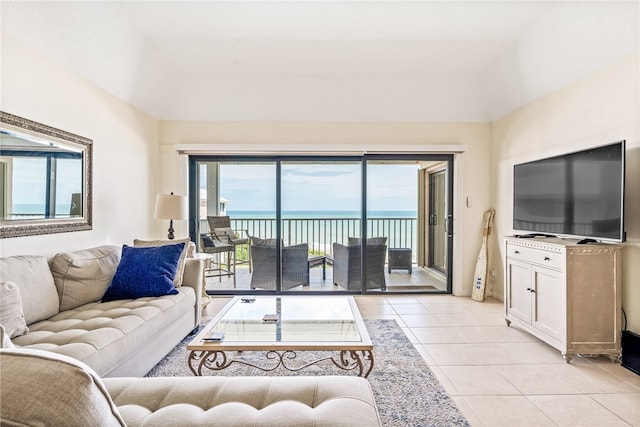
[[452, 225], [451, 155], [189, 164], [190, 234], [209, 293], [451, 291], [452, 227], [430, 225], [434, 215]]

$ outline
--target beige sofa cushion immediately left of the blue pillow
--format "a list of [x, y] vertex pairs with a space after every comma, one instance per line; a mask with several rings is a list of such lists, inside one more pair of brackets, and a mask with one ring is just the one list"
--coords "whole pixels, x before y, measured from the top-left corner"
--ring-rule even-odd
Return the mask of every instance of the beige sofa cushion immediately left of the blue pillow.
[[100, 301], [111, 284], [122, 249], [104, 245], [55, 255], [49, 261], [60, 311]]

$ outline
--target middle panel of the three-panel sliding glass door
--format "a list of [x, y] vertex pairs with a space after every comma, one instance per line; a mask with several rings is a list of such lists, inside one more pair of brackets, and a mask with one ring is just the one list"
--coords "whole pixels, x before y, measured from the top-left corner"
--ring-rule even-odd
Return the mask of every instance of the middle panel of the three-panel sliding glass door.
[[[280, 176], [282, 290], [360, 291], [360, 256], [347, 247], [362, 228], [360, 161], [283, 160]], [[304, 265], [298, 251], [306, 253]]]

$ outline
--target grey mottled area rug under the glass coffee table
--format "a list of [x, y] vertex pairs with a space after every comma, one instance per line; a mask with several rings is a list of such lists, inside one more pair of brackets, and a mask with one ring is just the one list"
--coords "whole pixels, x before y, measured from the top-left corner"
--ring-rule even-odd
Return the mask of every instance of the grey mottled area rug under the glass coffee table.
[[[384, 426], [469, 426], [395, 320], [365, 320], [365, 323], [374, 345], [375, 358], [373, 371], [368, 379]], [[193, 336], [185, 338], [147, 376], [191, 376], [186, 352], [186, 345], [191, 339]], [[314, 352], [298, 354], [307, 360], [319, 358]], [[242, 357], [256, 365], [263, 366], [266, 363], [264, 353], [245, 352], [242, 353]], [[321, 362], [299, 372], [290, 372], [282, 368], [263, 372], [257, 368], [234, 363], [223, 371], [207, 370], [203, 374], [348, 375], [330, 361]]]

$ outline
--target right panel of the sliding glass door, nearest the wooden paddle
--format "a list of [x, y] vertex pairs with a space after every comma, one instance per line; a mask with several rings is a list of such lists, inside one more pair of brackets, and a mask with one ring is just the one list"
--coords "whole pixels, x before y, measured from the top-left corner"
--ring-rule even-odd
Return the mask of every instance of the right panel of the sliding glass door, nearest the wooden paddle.
[[[436, 214], [443, 223], [449, 215], [452, 217], [452, 199], [447, 197], [452, 195], [451, 160], [433, 155], [365, 156], [365, 159], [370, 243], [366, 247], [367, 289], [450, 292], [446, 261], [434, 268], [424, 260], [434, 255], [442, 256], [439, 260], [449, 257], [447, 247], [453, 234], [444, 233], [444, 227], [434, 229], [427, 224]], [[433, 170], [438, 170], [441, 176], [441, 191], [437, 194], [425, 180]], [[380, 263], [374, 262], [383, 244], [387, 251], [384, 277]], [[438, 250], [434, 251], [434, 247]]]

